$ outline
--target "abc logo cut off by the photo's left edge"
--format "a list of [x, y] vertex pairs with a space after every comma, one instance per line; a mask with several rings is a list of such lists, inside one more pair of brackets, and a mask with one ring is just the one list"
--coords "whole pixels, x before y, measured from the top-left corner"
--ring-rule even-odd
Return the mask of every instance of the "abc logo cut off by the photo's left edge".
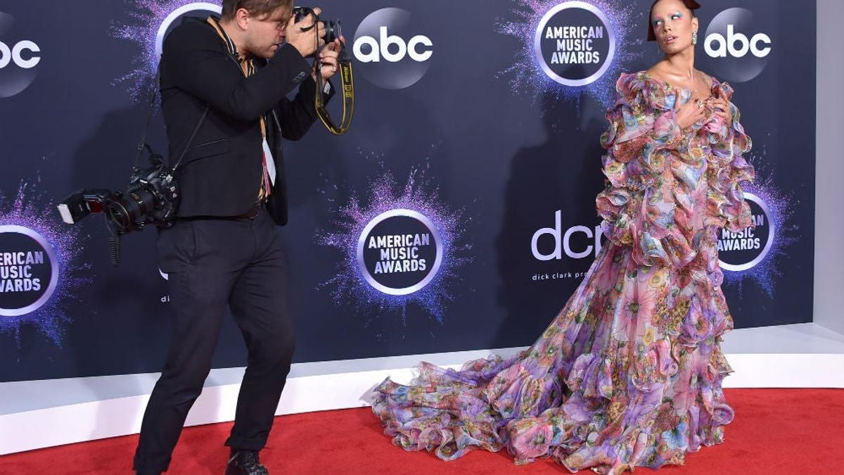
[[0, 12], [0, 99], [16, 96], [35, 80], [41, 47], [14, 29], [14, 17]]

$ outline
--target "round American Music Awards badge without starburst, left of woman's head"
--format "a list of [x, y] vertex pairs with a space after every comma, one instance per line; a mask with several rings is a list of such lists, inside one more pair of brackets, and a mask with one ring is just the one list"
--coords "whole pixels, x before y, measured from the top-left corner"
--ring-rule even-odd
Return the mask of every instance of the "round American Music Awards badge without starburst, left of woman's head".
[[607, 71], [615, 54], [615, 35], [598, 7], [565, 2], [539, 20], [533, 50], [549, 78], [578, 87], [595, 82]]

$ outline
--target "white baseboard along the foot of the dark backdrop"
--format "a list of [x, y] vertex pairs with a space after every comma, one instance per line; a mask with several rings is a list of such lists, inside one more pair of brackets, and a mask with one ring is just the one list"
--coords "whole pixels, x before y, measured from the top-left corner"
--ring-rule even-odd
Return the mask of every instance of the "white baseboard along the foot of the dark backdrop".
[[[795, 325], [795, 327], [798, 326]], [[800, 327], [801, 333], [805, 333], [806, 328], [808, 327]], [[782, 332], [789, 330], [779, 328], [778, 330], [768, 331]], [[771, 338], [773, 339], [773, 336]], [[816, 345], [817, 341], [814, 343], [809, 341], [807, 344]], [[838, 339], [834, 336], [831, 340], [826, 338], [825, 344], [841, 344], [842, 351], [826, 353], [733, 353], [728, 350], [730, 345], [725, 344], [728, 361], [735, 372], [725, 379], [724, 387], [844, 388], [844, 371], [841, 370], [844, 368], [844, 338]], [[498, 352], [500, 354], [512, 354], [517, 350], [518, 348], [507, 348]], [[355, 361], [377, 360], [377, 364], [361, 364], [360, 366], [378, 369], [345, 371], [335, 374], [299, 376], [291, 374], [292, 377], [288, 379], [284, 396], [281, 398], [276, 414], [365, 407], [369, 405], [371, 390], [387, 376], [403, 383], [412, 379], [413, 371], [408, 362], [425, 359], [457, 369], [460, 363], [448, 364], [446, 362], [463, 362], [468, 359], [483, 358], [492, 352], [494, 351], [372, 358], [372, 360]], [[404, 366], [395, 366], [394, 363], [397, 362], [404, 363]], [[342, 368], [343, 363], [313, 364], [321, 364], [323, 368]], [[238, 370], [228, 371], [235, 371], [236, 373]], [[154, 379], [154, 375], [149, 376]], [[205, 387], [202, 396], [199, 396], [187, 417], [187, 425], [233, 420], [239, 389], [240, 385], [236, 383]], [[149, 391], [145, 392], [149, 393]], [[149, 394], [143, 394], [0, 415], [0, 455], [73, 444], [86, 440], [138, 434], [143, 409], [146, 407], [148, 400]]]

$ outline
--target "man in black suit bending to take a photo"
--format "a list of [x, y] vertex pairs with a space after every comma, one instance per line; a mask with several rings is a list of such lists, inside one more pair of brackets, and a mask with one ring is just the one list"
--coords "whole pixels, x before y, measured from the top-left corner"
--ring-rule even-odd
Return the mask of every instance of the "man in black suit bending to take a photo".
[[[170, 160], [187, 153], [177, 174], [176, 223], [158, 239], [160, 268], [170, 274], [173, 341], [143, 416], [138, 474], [169, 466], [208, 376], [226, 304], [249, 356], [225, 473], [267, 473], [258, 450], [273, 425], [294, 343], [275, 230], [287, 221], [281, 139], [300, 139], [316, 120], [316, 74], [332, 77], [340, 50], [339, 41], [322, 48], [323, 68], [312, 71], [305, 57], [322, 45], [323, 25], [309, 28], [312, 15], [296, 23], [291, 11], [292, 0], [224, 0], [219, 19], [186, 19], [165, 41], [160, 74]], [[331, 96], [330, 89], [326, 83], [322, 93]]]

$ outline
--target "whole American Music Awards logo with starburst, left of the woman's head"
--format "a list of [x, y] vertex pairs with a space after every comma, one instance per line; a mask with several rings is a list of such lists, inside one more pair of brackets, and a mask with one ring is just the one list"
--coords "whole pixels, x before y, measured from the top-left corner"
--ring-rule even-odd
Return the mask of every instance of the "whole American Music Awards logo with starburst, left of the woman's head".
[[641, 56], [635, 38], [635, 5], [605, 0], [513, 0], [510, 18], [497, 31], [520, 42], [515, 62], [499, 76], [514, 93], [552, 94], [578, 100], [582, 94], [609, 106], [623, 64]]

